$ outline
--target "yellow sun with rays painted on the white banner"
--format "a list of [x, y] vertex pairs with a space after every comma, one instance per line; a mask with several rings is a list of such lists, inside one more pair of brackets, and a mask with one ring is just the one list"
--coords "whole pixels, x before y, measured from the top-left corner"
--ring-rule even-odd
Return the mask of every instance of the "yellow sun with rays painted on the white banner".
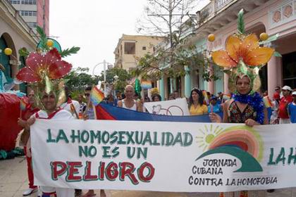
[[197, 144], [200, 144], [199, 148], [205, 151], [215, 137], [221, 134], [222, 131], [223, 128], [220, 126], [213, 127], [213, 125], [210, 125], [207, 127], [207, 125], [204, 125], [204, 129], [199, 129], [199, 135], [196, 136]]

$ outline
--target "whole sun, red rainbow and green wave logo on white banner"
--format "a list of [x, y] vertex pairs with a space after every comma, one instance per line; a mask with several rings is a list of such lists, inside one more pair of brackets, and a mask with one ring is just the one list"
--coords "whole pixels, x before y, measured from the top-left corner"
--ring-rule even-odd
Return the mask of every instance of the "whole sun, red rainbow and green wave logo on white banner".
[[260, 161], [263, 158], [264, 142], [260, 134], [252, 127], [238, 125], [222, 128], [213, 125], [199, 129], [201, 135], [196, 136], [199, 148], [204, 153], [196, 160], [207, 155], [223, 153], [238, 158], [242, 166], [235, 172], [262, 172]]

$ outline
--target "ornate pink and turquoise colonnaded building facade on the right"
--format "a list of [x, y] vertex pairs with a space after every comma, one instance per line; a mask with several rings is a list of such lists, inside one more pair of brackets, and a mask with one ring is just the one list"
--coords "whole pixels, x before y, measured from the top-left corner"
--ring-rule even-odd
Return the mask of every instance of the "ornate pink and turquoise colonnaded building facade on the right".
[[[216, 51], [225, 49], [228, 37], [237, 31], [237, 14], [244, 9], [245, 29], [247, 32], [259, 34], [266, 32], [269, 36], [279, 34], [272, 42], [272, 47], [282, 57], [273, 56], [269, 63], [260, 71], [262, 90], [273, 95], [276, 86], [289, 85], [296, 88], [296, 1], [295, 0], [212, 0], [208, 5], [197, 11], [197, 27], [195, 34], [190, 36], [199, 51]], [[208, 42], [207, 36], [215, 34], [214, 42]], [[210, 57], [210, 53], [207, 53]], [[187, 76], [180, 79], [179, 87], [183, 96], [188, 96], [192, 87], [199, 87], [217, 94], [219, 91], [228, 93], [228, 76], [212, 67], [212, 72], [219, 80], [206, 82], [202, 80], [203, 68], [188, 69]], [[171, 88], [168, 79], [159, 81], [164, 87], [164, 95]], [[186, 82], [187, 80], [187, 82]], [[169, 84], [169, 85], [168, 85]]]

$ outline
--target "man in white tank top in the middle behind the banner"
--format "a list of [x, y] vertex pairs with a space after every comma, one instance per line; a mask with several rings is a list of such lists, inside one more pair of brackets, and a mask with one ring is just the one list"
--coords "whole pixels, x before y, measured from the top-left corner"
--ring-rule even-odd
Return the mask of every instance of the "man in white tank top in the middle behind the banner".
[[118, 107], [125, 108], [128, 110], [137, 110], [142, 112], [142, 104], [140, 101], [135, 101], [135, 89], [132, 85], [127, 85], [124, 90], [125, 98], [121, 101], [118, 101]]

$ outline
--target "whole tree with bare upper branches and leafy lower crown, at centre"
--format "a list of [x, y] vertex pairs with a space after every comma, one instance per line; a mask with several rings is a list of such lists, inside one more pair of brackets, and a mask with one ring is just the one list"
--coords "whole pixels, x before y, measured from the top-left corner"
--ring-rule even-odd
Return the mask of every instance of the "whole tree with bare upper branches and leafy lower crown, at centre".
[[166, 42], [156, 46], [154, 54], [147, 53], [137, 59], [133, 75], [158, 80], [162, 74], [169, 77], [185, 75], [184, 66], [204, 68], [204, 80], [216, 80], [209, 59], [198, 53], [195, 45], [188, 42], [185, 34], [195, 29], [195, 15], [189, 13], [196, 6], [195, 0], [147, 0], [144, 16], [138, 20], [138, 32], [161, 34]]

